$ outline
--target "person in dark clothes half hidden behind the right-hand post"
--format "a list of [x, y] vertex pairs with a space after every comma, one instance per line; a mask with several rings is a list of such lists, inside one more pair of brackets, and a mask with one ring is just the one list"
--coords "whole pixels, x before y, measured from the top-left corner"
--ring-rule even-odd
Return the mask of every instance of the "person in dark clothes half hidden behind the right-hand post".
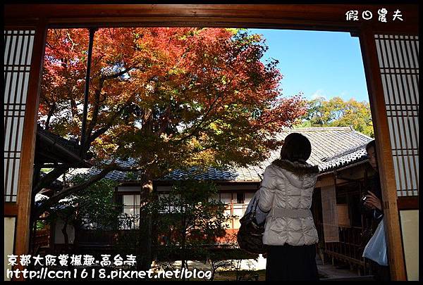
[[[376, 175], [374, 175], [369, 183], [367, 189], [367, 195], [364, 196], [364, 206], [368, 209], [367, 216], [369, 217], [370, 224], [369, 224], [369, 231], [373, 234], [378, 226], [379, 222], [384, 218], [384, 210], [382, 208], [382, 192], [381, 192], [381, 183], [377, 165], [377, 158], [376, 158], [376, 143], [375, 141], [370, 141], [369, 144], [366, 146], [367, 156], [369, 158], [369, 164], [372, 165], [372, 168], [376, 171]], [[369, 236], [368, 239], [370, 239]], [[368, 240], [367, 240], [368, 241]], [[365, 241], [367, 243], [367, 241]], [[389, 281], [391, 280], [391, 275], [389, 272], [389, 266], [379, 265], [377, 262], [373, 260], [369, 260], [370, 268], [372, 270], [372, 274], [378, 281]]]

